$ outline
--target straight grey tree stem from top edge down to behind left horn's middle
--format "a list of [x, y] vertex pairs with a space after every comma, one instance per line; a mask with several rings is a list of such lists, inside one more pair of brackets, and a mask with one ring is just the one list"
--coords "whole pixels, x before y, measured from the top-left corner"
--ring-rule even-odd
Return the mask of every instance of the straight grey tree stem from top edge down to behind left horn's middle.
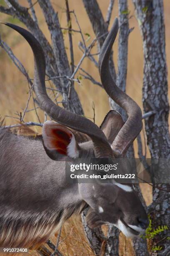
[[[60, 23], [58, 20], [58, 15], [55, 13], [52, 4], [48, 0], [38, 0], [40, 7], [45, 16], [45, 20], [48, 26], [48, 29], [51, 34], [51, 40], [53, 44], [55, 61], [57, 63], [57, 68], [60, 76], [67, 75], [70, 77], [71, 71], [67, 59], [67, 54], [65, 51], [65, 45], [63, 41], [62, 32], [60, 30]], [[57, 74], [58, 75], [58, 74]], [[52, 77], [52, 76], [50, 76]], [[72, 77], [73, 78], [73, 77]], [[78, 95], [75, 90], [71, 90], [70, 99], [68, 98], [68, 87], [67, 87], [67, 79], [60, 79], [60, 83], [62, 85], [63, 90], [63, 106], [67, 110], [75, 112], [79, 115], [83, 115], [82, 106], [80, 100], [78, 99]]]

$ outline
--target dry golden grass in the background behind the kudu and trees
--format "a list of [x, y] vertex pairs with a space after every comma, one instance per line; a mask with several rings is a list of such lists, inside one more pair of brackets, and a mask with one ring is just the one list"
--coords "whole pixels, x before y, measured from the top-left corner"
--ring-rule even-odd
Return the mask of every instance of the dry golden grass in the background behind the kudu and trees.
[[[20, 0], [20, 3], [23, 5], [26, 3], [25, 0]], [[56, 11], [59, 12], [61, 26], [66, 26], [66, 18], [65, 13], [63, 13], [64, 1], [56, 0], [53, 1]], [[112, 20], [118, 13], [117, 2], [115, 1], [115, 6], [113, 10]], [[129, 1], [129, 9], [131, 14], [134, 14], [134, 8]], [[80, 0], [69, 0], [70, 10], [75, 10], [77, 14], [78, 20], [80, 21], [80, 25], [82, 31], [84, 33], [89, 33], [91, 38], [94, 38], [94, 33], [92, 32], [92, 28], [90, 25], [90, 21], [87, 18], [85, 9], [83, 8], [82, 1]], [[107, 6], [109, 0], [98, 0], [100, 8], [104, 16], [106, 16]], [[166, 45], [170, 45], [170, 3], [169, 0], [164, 0], [165, 5], [165, 28], [166, 28]], [[50, 41], [50, 34], [47, 30], [45, 20], [43, 19], [42, 13], [38, 5], [36, 5], [36, 11], [38, 18], [40, 20], [40, 27], [42, 31], [45, 33], [45, 36]], [[0, 20], [8, 20], [9, 17], [7, 15], [0, 14]], [[16, 22], [16, 20], [15, 20]], [[75, 21], [72, 20], [72, 26], [75, 27]], [[142, 84], [143, 84], [143, 49], [142, 49], [142, 40], [140, 36], [140, 31], [138, 28], [138, 23], [135, 18], [130, 19], [130, 27], [135, 27], [134, 31], [130, 34], [129, 38], [129, 52], [128, 52], [128, 81], [127, 81], [127, 92], [142, 108]], [[75, 27], [76, 28], [76, 27]], [[16, 32], [12, 31], [9, 28], [6, 28], [0, 25], [0, 33], [2, 35], [3, 40], [7, 41], [7, 43], [12, 47], [14, 53], [20, 59], [20, 61], [24, 64], [26, 69], [29, 71], [30, 77], [33, 77], [33, 56], [28, 44], [19, 36]], [[80, 40], [80, 36], [76, 33], [73, 35], [73, 42], [75, 45], [75, 64], [81, 58], [81, 52], [78, 49], [78, 41]], [[65, 35], [65, 45], [68, 46], [68, 38]], [[117, 41], [114, 46], [114, 60], [115, 64], [117, 63]], [[168, 60], [168, 68], [170, 67], [170, 47], [166, 48], [167, 60]], [[86, 69], [89, 73], [91, 73], [95, 79], [100, 81], [98, 70], [94, 67], [94, 65], [85, 60], [82, 67]], [[170, 75], [168, 75], [168, 79], [170, 79]], [[92, 102], [95, 103], [95, 113], [96, 113], [96, 123], [100, 125], [105, 114], [110, 109], [107, 95], [106, 93], [97, 85], [93, 85], [87, 80], [82, 80], [82, 86], [75, 84], [75, 89], [78, 92], [80, 100], [82, 102], [83, 109], [85, 111], [85, 115], [88, 117], [92, 117]], [[12, 115], [15, 116], [14, 113], [23, 112], [23, 108], [25, 108], [26, 101], [28, 99], [28, 84], [25, 81], [25, 77], [18, 71], [18, 69], [13, 65], [12, 61], [8, 58], [8, 56], [0, 49], [0, 115]], [[33, 104], [29, 105], [29, 109], [33, 108]], [[40, 118], [43, 121], [43, 115], [38, 110], [40, 114]], [[35, 121], [37, 122], [37, 117], [34, 112], [30, 112], [26, 115], [25, 121]], [[6, 118], [6, 124], [14, 124], [17, 121], [12, 118]], [[40, 132], [40, 128], [36, 128], [37, 131]], [[137, 152], [137, 145], [135, 142], [135, 152]], [[136, 153], [137, 154], [137, 153]], [[149, 152], [147, 149], [147, 155], [149, 156]], [[147, 184], [142, 184], [142, 191], [145, 197], [147, 204], [149, 204], [152, 200], [151, 197], [151, 187]], [[120, 255], [133, 255], [133, 249], [131, 246], [131, 241], [126, 239], [122, 234], [120, 235]], [[56, 243], [56, 236], [52, 238], [53, 243]], [[83, 232], [82, 224], [80, 221], [80, 217], [72, 217], [69, 221], [67, 221], [61, 233], [60, 241], [62, 241], [59, 245], [59, 250], [63, 255], [73, 256], [73, 255], [93, 255]], [[3, 254], [4, 255], [4, 254]], [[31, 255], [36, 255], [35, 251], [31, 252]]]

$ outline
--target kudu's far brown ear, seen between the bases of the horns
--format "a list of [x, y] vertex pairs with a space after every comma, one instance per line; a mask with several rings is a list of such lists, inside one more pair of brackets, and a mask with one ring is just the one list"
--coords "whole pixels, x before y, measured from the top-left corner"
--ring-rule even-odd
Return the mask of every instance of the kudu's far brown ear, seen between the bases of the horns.
[[100, 129], [105, 133], [107, 141], [112, 144], [123, 125], [121, 115], [116, 110], [110, 110], [102, 121]]

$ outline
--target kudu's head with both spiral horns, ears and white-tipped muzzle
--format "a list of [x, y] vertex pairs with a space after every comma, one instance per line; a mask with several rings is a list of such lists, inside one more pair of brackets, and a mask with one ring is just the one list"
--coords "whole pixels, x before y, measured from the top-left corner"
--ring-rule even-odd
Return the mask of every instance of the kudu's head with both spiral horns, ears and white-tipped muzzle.
[[[124, 156], [141, 131], [142, 114], [139, 106], [116, 86], [110, 75], [109, 55], [117, 35], [118, 20], [115, 20], [102, 46], [99, 72], [105, 91], [127, 112], [128, 119], [124, 123], [120, 114], [111, 110], [100, 128], [87, 118], [70, 113], [50, 100], [45, 89], [45, 55], [42, 47], [25, 29], [5, 24], [18, 31], [30, 44], [34, 54], [34, 90], [37, 100], [41, 109], [57, 122], [47, 121], [42, 128], [47, 155], [56, 161]], [[132, 184], [78, 184], [78, 190], [81, 200], [90, 205], [93, 217], [101, 219], [101, 223], [113, 223], [126, 236], [138, 235], [147, 228], [145, 209]]]

